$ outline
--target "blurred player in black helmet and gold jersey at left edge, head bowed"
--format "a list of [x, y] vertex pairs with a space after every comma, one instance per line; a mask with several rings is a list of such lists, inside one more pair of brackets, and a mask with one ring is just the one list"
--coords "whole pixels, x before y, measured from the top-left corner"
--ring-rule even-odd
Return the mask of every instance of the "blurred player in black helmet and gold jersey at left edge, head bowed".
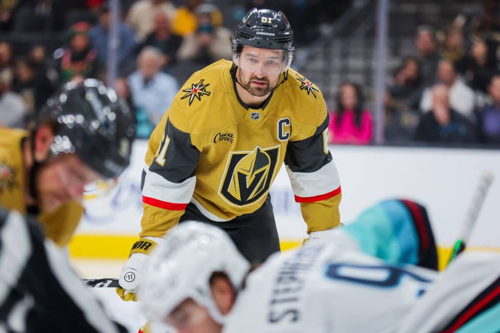
[[0, 128], [0, 206], [37, 215], [66, 245], [83, 214], [84, 186], [117, 177], [130, 161], [135, 122], [112, 89], [68, 83], [47, 100], [31, 131]]

